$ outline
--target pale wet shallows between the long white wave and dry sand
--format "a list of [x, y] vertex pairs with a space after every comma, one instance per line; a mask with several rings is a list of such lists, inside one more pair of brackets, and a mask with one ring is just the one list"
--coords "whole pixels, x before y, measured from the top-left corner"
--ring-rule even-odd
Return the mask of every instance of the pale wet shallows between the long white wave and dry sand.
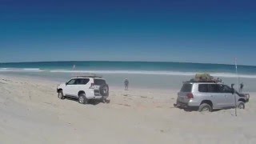
[[[66, 82], [70, 78], [74, 78], [72, 74], [62, 73], [0, 73], [0, 75], [42, 79], [52, 81], [57, 84]], [[182, 87], [182, 82], [186, 82], [193, 78], [192, 76], [166, 76], [166, 75], [147, 75], [147, 74], [100, 74], [106, 78], [110, 87], [122, 88], [124, 86], [123, 80], [128, 78], [130, 81], [130, 89], [146, 89], [146, 90], [177, 90]], [[237, 85], [237, 78], [221, 78], [224, 84], [230, 86], [232, 83]], [[256, 92], [256, 79], [254, 78], [239, 78], [240, 82], [244, 84], [244, 92]]]

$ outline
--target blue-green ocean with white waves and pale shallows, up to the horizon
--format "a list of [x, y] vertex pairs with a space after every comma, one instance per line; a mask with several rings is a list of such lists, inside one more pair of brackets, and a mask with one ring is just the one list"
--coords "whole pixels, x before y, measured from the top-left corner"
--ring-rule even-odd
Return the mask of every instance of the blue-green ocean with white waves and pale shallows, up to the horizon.
[[[175, 88], [196, 73], [210, 73], [222, 78], [228, 84], [247, 84], [253, 91], [256, 86], [256, 66], [238, 65], [238, 75], [234, 65], [202, 64], [184, 62], [12, 62], [0, 63], [0, 74], [18, 74], [48, 78], [63, 82], [74, 75], [94, 73], [108, 80], [111, 86], [122, 86], [123, 79], [129, 78], [132, 87]], [[256, 90], [255, 90], [256, 91]]]

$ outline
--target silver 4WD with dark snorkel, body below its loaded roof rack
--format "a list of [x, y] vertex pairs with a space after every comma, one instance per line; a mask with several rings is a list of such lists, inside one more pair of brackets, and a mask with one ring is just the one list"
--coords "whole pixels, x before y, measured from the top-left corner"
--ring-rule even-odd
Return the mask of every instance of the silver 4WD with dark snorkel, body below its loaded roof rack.
[[[236, 101], [234, 100], [236, 99]], [[197, 108], [198, 111], [212, 111], [237, 106], [245, 109], [249, 101], [246, 94], [240, 94], [230, 86], [215, 82], [185, 82], [178, 93], [177, 103], [180, 108]]]

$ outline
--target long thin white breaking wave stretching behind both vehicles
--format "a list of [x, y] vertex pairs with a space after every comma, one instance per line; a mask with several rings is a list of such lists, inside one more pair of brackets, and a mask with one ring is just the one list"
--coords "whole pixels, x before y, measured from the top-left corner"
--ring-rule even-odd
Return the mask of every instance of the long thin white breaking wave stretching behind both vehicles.
[[[149, 74], [149, 75], [177, 75], [194, 76], [196, 72], [178, 71], [146, 71], [146, 70], [50, 70], [51, 73], [94, 73], [94, 74]], [[214, 77], [223, 78], [256, 78], [256, 74], [210, 73]]]

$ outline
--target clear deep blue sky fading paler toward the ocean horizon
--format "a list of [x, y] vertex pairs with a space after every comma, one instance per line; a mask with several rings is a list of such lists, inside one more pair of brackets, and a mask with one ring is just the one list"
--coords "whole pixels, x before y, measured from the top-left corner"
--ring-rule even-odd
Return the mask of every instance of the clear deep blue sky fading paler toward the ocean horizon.
[[256, 2], [1, 0], [0, 62], [256, 65]]

